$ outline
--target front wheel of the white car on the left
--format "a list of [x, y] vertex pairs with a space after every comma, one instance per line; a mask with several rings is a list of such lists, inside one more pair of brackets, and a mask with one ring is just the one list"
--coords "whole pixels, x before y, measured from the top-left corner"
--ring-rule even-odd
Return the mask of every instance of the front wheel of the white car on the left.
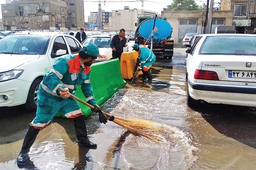
[[42, 79], [36, 79], [29, 89], [27, 102], [25, 104], [25, 108], [29, 111], [35, 111], [37, 109], [37, 94], [41, 81]]

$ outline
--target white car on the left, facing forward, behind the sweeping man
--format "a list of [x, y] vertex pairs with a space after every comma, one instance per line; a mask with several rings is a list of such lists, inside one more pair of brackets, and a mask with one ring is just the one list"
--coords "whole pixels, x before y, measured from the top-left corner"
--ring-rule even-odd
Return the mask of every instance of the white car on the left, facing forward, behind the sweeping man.
[[82, 48], [74, 36], [58, 32], [14, 33], [0, 40], [0, 107], [25, 104], [36, 110], [43, 76], [63, 54]]

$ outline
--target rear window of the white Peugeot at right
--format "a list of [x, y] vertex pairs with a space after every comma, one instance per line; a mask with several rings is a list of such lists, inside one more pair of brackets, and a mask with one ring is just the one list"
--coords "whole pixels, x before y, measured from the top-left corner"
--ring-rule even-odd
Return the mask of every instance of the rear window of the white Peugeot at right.
[[256, 55], [255, 36], [211, 36], [205, 38], [200, 54]]

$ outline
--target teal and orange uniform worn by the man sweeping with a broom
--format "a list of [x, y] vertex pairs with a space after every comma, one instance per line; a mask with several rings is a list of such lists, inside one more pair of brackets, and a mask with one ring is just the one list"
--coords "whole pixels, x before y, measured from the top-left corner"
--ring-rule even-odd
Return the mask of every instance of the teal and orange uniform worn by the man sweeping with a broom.
[[86, 102], [96, 104], [90, 83], [91, 68], [80, 68], [80, 65], [79, 54], [64, 55], [54, 62], [52, 69], [45, 74], [39, 85], [36, 117], [30, 126], [42, 129], [58, 112], [67, 118], [76, 118], [83, 114], [76, 100], [63, 99], [60, 96], [58, 87], [67, 87], [70, 93], [74, 93], [81, 85]]

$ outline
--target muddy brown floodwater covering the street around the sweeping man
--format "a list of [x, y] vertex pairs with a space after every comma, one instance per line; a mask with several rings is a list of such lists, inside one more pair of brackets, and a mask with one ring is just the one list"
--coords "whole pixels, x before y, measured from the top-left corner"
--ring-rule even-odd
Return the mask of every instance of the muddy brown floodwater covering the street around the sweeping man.
[[1, 108], [0, 169], [256, 169], [256, 108], [204, 104], [186, 106], [184, 67], [153, 67], [153, 81], [136, 79], [102, 107], [122, 118], [152, 120], [165, 129], [164, 141], [152, 144], [117, 124], [86, 119], [89, 139], [97, 149], [79, 147], [73, 122], [55, 118], [41, 130], [27, 165], [16, 159], [34, 113], [21, 107]]

